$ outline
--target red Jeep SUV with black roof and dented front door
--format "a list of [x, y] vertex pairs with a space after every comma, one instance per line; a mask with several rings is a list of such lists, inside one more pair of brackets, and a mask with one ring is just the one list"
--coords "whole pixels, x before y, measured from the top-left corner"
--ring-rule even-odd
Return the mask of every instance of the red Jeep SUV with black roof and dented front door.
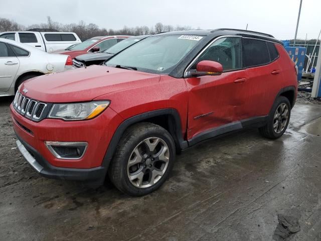
[[235, 29], [160, 33], [92, 65], [27, 80], [11, 104], [18, 147], [43, 176], [144, 195], [176, 153], [227, 132], [285, 132], [296, 69], [282, 43]]

